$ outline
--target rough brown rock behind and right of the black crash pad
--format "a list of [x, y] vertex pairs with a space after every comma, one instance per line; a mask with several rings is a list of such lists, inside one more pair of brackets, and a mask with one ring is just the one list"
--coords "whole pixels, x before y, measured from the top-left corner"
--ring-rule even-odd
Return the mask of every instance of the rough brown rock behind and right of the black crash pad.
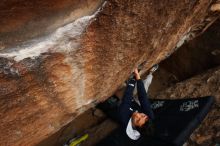
[[189, 98], [200, 96], [214, 96], [215, 104], [205, 120], [191, 135], [187, 145], [207, 146], [220, 142], [220, 67], [178, 83], [166, 89], [156, 98]]

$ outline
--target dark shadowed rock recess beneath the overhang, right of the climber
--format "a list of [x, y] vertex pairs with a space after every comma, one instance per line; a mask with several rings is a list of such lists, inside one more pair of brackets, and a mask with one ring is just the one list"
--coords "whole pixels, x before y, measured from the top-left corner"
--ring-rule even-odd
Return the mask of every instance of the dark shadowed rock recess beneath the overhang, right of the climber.
[[200, 36], [186, 42], [160, 63], [149, 93], [156, 96], [167, 87], [220, 65], [220, 20]]

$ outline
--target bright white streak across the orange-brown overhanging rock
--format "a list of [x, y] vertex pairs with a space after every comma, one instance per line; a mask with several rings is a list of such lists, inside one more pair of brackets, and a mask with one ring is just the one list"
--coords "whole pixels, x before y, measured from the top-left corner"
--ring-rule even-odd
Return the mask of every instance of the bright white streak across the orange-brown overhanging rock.
[[74, 22], [58, 28], [49, 36], [38, 38], [17, 48], [7, 49], [0, 53], [0, 57], [13, 58], [20, 61], [25, 58], [34, 58], [46, 52], [69, 52], [80, 46], [80, 36], [99, 13], [106, 2], [90, 16], [78, 18]]

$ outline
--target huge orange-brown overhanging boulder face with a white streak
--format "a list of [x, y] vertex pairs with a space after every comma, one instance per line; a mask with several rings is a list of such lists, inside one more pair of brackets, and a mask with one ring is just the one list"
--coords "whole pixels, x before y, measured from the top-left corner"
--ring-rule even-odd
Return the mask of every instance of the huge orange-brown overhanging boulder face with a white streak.
[[110, 96], [135, 66], [166, 58], [210, 2], [3, 1], [1, 144], [37, 144]]

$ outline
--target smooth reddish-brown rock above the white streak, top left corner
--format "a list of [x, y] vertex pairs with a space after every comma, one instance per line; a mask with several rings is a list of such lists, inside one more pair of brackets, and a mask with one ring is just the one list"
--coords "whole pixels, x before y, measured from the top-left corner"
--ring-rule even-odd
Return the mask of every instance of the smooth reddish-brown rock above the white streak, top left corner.
[[102, 0], [2, 0], [0, 50], [51, 33], [75, 19], [91, 15]]

